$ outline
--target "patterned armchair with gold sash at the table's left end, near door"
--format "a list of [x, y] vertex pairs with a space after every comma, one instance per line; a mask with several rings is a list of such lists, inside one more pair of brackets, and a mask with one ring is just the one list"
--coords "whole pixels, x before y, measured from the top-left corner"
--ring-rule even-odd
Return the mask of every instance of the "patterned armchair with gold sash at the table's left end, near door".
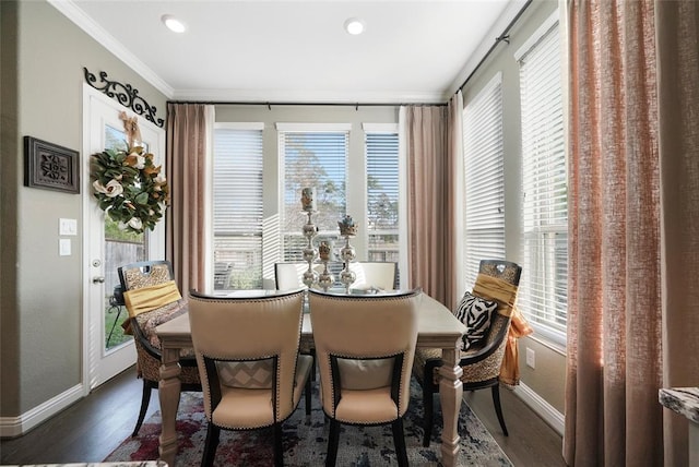
[[[161, 381], [161, 340], [155, 327], [187, 312], [173, 280], [168, 261], [142, 261], [119, 267], [119, 282], [129, 319], [126, 332], [133, 335], [137, 350], [137, 375], [143, 380], [141, 410], [131, 436], [139, 434], [151, 402], [151, 393]], [[182, 351], [179, 360], [182, 391], [201, 391], [197, 360], [192, 349]]]

